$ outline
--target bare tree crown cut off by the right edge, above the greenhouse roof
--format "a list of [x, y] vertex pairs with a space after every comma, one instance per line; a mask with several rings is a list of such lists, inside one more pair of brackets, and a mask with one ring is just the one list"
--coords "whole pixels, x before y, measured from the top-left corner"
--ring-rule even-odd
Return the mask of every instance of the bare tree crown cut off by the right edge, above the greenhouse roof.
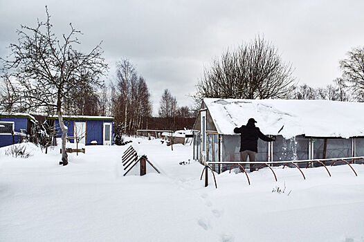
[[364, 101], [364, 47], [356, 47], [347, 53], [347, 59], [340, 61], [343, 78], [351, 85], [356, 98]]

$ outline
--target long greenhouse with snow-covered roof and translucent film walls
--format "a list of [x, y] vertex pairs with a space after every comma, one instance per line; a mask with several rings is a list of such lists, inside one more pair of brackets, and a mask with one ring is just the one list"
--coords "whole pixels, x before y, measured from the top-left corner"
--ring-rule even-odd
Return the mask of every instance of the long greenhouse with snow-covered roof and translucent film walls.
[[[249, 118], [262, 133], [277, 137], [258, 140], [257, 162], [364, 156], [363, 110], [358, 102], [205, 98], [194, 124], [194, 160], [239, 161], [240, 136], [233, 130]], [[228, 167], [212, 169], [220, 173]]]

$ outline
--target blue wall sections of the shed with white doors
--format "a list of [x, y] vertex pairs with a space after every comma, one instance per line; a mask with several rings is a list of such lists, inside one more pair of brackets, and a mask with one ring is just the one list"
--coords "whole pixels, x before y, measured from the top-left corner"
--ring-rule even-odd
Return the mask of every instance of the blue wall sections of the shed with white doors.
[[[86, 145], [91, 145], [91, 141], [96, 140], [98, 145], [103, 145], [103, 122], [112, 123], [111, 120], [66, 120], [64, 119], [64, 124], [69, 128], [67, 131], [67, 136], [73, 136], [74, 122], [86, 122]], [[60, 129], [60, 123], [55, 120], [55, 127], [57, 129], [57, 137], [62, 136], [62, 131]], [[111, 145], [113, 144], [113, 129], [111, 130]], [[74, 142], [70, 140], [70, 142]]]

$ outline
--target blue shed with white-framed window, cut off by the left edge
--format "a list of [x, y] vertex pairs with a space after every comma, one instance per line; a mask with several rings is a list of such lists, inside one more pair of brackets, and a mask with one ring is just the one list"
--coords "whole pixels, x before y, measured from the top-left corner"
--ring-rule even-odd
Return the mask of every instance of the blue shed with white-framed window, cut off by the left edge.
[[32, 136], [36, 122], [28, 113], [0, 113], [0, 147], [17, 144]]

